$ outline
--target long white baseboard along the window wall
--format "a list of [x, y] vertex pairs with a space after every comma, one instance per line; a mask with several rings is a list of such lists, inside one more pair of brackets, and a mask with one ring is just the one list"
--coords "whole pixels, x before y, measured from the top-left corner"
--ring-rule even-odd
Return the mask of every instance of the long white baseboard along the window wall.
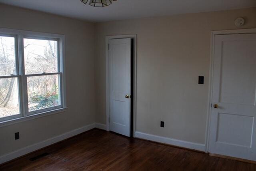
[[92, 123], [90, 125], [86, 125], [84, 127], [80, 127], [78, 129], [74, 129], [74, 130], [69, 131], [67, 133], [58, 135], [56, 137], [52, 137], [50, 139], [46, 139], [46, 140], [44, 140], [42, 142], [39, 142], [39, 143], [36, 143], [36, 144], [33, 144], [33, 145], [29, 145], [29, 146], [24, 147], [22, 149], [18, 149], [17, 151], [13, 151], [13, 152], [8, 153], [6, 155], [2, 155], [2, 156], [0, 156], [0, 164], [1, 163], [5, 163], [7, 161], [10, 161], [12, 159], [15, 159], [17, 157], [20, 157], [22, 155], [26, 155], [28, 153], [31, 153], [33, 151], [36, 151], [36, 150], [41, 149], [43, 147], [46, 147], [48, 145], [52, 145], [52, 144], [57, 143], [59, 141], [62, 141], [64, 139], [73, 137], [75, 135], [78, 135], [78, 134], [83, 133], [85, 131], [88, 131], [90, 129], [93, 129], [93, 128], [95, 128], [95, 125], [96, 125], [95, 123]]

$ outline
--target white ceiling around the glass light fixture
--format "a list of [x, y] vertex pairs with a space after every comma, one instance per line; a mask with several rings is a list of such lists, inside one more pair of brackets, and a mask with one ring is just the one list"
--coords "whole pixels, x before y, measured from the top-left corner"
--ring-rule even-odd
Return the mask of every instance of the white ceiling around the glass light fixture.
[[256, 0], [117, 0], [104, 8], [84, 5], [80, 0], [0, 0], [0, 3], [92, 22], [256, 6]]

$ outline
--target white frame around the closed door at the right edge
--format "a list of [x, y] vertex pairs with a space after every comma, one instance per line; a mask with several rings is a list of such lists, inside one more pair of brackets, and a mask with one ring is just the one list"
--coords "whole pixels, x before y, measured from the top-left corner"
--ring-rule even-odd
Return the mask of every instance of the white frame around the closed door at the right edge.
[[221, 34], [254, 34], [256, 28], [237, 29], [237, 30], [218, 30], [211, 32], [211, 51], [210, 51], [210, 73], [209, 73], [209, 91], [208, 91], [208, 109], [206, 122], [206, 136], [205, 136], [205, 152], [209, 151], [209, 137], [210, 137], [210, 118], [212, 113], [212, 87], [213, 87], [213, 73], [214, 73], [214, 37]]

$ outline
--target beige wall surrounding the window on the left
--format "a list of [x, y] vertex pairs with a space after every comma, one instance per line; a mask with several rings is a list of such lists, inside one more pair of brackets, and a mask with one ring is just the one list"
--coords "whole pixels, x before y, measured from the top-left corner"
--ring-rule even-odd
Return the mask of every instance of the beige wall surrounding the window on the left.
[[94, 24], [0, 4], [0, 27], [66, 36], [68, 105], [64, 113], [0, 127], [0, 156], [94, 123]]

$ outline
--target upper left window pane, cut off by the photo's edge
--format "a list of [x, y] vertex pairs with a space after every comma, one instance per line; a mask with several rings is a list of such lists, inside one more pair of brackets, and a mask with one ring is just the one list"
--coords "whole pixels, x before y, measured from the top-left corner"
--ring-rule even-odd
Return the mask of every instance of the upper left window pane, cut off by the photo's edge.
[[0, 36], [0, 76], [16, 74], [15, 38]]

